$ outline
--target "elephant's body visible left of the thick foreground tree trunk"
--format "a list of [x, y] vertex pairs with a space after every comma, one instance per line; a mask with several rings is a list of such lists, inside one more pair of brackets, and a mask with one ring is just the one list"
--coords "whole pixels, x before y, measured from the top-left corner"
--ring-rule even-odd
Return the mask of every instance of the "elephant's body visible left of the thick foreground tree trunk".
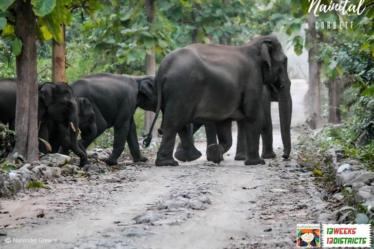
[[0, 122], [10, 123], [16, 117], [17, 79], [0, 79]]

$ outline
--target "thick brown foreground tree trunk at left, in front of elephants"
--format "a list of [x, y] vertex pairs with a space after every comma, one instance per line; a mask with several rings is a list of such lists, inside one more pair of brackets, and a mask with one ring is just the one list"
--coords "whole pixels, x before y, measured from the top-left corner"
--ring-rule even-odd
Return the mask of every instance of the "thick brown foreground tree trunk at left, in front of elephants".
[[16, 5], [15, 34], [22, 41], [22, 52], [16, 57], [17, 104], [16, 144], [8, 157], [13, 154], [27, 157], [28, 161], [38, 160], [37, 141], [37, 35], [36, 17], [31, 0], [18, 0]]

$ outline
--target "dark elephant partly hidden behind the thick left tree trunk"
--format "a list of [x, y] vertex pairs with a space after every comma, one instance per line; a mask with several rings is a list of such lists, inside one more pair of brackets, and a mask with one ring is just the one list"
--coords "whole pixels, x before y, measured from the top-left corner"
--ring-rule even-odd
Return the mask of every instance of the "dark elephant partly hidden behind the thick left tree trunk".
[[[9, 124], [14, 130], [16, 120], [17, 79], [0, 79], [0, 122]], [[38, 136], [48, 141], [48, 123], [56, 121], [70, 133], [71, 149], [80, 158], [80, 165], [88, 164], [87, 155], [78, 146], [78, 114], [72, 89], [64, 83], [47, 82], [38, 86]], [[76, 128], [75, 128], [76, 127]], [[39, 146], [42, 153], [47, 153], [45, 146]]]

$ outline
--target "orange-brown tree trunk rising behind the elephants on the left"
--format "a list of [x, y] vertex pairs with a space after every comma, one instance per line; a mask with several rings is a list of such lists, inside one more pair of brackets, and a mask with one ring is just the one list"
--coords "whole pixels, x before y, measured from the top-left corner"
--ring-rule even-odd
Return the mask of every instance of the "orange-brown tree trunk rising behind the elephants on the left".
[[52, 41], [52, 81], [53, 82], [66, 82], [66, 52], [65, 52], [65, 25], [61, 25], [61, 39], [62, 43], [59, 44], [55, 39]]

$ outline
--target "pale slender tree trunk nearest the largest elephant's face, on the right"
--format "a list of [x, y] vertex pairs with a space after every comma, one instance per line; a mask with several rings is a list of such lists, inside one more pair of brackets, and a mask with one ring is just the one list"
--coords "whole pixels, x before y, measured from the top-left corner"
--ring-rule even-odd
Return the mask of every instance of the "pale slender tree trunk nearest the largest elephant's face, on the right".
[[309, 13], [309, 31], [312, 48], [308, 53], [309, 60], [309, 126], [316, 129], [321, 124], [321, 102], [320, 102], [320, 75], [317, 62], [317, 31], [316, 17]]

